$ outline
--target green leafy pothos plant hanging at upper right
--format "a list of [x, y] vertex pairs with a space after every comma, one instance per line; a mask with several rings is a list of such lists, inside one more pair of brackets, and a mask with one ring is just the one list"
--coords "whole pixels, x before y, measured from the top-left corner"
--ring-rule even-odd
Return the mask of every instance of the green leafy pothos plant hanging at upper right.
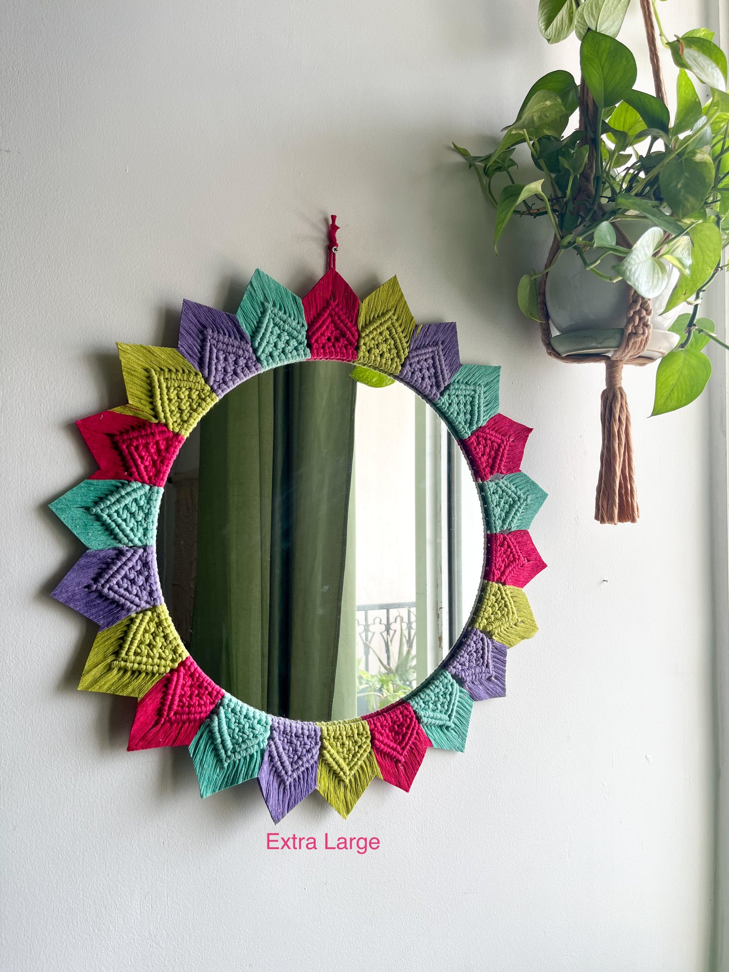
[[[527, 317], [540, 320], [538, 280], [566, 250], [573, 250], [587, 271], [610, 282], [625, 281], [649, 298], [667, 288], [672, 266], [677, 267], [664, 312], [684, 302], [692, 306], [672, 325], [680, 344], [656, 372], [652, 414], [659, 415], [701, 395], [712, 373], [702, 350], [710, 340], [729, 350], [714, 334], [712, 321], [699, 316], [702, 295], [726, 269], [727, 60], [712, 31], [703, 27], [669, 40], [652, 0], [660, 41], [677, 66], [672, 120], [665, 93], [661, 98], [636, 90], [636, 58], [616, 40], [629, 5], [630, 0], [539, 0], [538, 26], [548, 43], [573, 32], [580, 41], [582, 91], [568, 71], [551, 71], [529, 89], [493, 152], [471, 156], [454, 148], [496, 208], [495, 246], [515, 215], [549, 220], [554, 229], [559, 245], [553, 259], [519, 281], [519, 307]], [[643, 6], [650, 17], [648, 0]], [[654, 54], [654, 76], [660, 77]], [[578, 103], [577, 125], [569, 130]], [[527, 184], [514, 178], [520, 145], [540, 173]], [[644, 221], [647, 228], [631, 245], [621, 225], [632, 220]], [[608, 255], [614, 262], [605, 273]]]

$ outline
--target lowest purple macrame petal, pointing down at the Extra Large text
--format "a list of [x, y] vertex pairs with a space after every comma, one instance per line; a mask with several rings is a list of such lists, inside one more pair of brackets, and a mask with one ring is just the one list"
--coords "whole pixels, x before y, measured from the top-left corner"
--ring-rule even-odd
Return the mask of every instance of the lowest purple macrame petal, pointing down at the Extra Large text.
[[321, 737], [313, 722], [271, 719], [259, 785], [274, 823], [316, 789]]

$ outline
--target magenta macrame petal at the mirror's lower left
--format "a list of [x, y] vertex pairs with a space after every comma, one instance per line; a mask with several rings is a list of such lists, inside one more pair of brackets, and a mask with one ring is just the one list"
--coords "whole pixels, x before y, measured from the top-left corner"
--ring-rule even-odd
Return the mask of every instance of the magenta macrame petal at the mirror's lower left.
[[190, 746], [223, 695], [189, 655], [137, 703], [127, 749]]

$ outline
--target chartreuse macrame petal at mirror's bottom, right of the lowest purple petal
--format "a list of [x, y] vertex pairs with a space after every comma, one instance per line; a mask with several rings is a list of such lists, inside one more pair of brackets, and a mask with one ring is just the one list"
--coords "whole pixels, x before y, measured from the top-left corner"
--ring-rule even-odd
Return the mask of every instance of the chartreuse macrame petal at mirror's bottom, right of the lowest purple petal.
[[322, 729], [317, 789], [340, 816], [349, 816], [375, 777], [382, 779], [366, 719], [318, 722]]

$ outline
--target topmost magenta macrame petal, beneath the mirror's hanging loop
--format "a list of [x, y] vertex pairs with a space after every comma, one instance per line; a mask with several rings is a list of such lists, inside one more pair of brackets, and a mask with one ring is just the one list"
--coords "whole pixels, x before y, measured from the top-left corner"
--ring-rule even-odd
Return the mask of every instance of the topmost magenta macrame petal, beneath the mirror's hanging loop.
[[329, 270], [301, 299], [312, 359], [357, 360], [360, 298], [336, 270]]

